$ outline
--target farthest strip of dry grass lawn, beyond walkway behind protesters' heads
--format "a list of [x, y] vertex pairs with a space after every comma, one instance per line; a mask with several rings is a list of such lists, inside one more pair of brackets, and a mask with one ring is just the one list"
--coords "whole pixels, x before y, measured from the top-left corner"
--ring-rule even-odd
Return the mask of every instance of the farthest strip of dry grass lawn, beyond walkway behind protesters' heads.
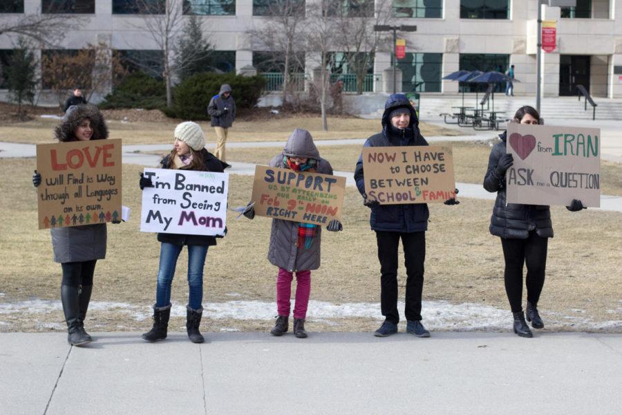
[[[0, 141], [44, 143], [53, 139], [53, 129], [58, 120], [39, 118], [28, 122], [0, 125]], [[329, 118], [330, 131], [322, 131], [321, 118], [291, 117], [279, 120], [237, 121], [229, 130], [227, 140], [231, 141], [272, 141], [287, 140], [294, 128], [308, 129], [316, 140], [337, 138], [367, 138], [377, 132], [378, 120], [362, 118]], [[168, 122], [108, 122], [111, 138], [122, 138], [124, 144], [165, 144], [171, 142], [176, 120]], [[214, 142], [216, 135], [209, 122], [200, 122], [207, 134], [208, 142]], [[445, 129], [424, 122], [420, 125], [425, 136], [456, 136], [463, 133]]]

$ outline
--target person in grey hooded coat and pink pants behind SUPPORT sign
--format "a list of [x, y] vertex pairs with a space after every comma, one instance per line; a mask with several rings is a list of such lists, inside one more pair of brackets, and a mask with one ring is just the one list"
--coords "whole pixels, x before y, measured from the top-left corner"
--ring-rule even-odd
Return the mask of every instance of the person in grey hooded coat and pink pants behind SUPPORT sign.
[[[328, 160], [319, 156], [309, 131], [295, 129], [283, 153], [270, 160], [270, 167], [292, 169], [294, 172], [317, 172], [332, 174]], [[252, 203], [244, 211], [244, 216], [253, 219], [255, 216]], [[333, 219], [328, 223], [327, 230], [342, 230], [341, 223]], [[289, 329], [290, 297], [292, 279], [296, 273], [296, 304], [294, 305], [294, 335], [297, 338], [307, 337], [305, 318], [311, 294], [311, 271], [320, 266], [321, 226], [312, 223], [272, 219], [268, 260], [279, 267], [276, 277], [276, 309], [279, 316], [270, 333], [283, 335]]]

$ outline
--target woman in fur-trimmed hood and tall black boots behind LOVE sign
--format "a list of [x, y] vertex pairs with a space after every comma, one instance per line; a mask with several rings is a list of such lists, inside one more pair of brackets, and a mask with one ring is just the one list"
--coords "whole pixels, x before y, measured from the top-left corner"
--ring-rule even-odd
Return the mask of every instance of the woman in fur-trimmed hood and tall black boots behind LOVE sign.
[[[55, 129], [55, 136], [61, 142], [105, 140], [108, 128], [97, 107], [80, 105], [67, 111]], [[37, 187], [41, 180], [41, 174], [35, 170], [32, 184]], [[106, 223], [57, 227], [50, 232], [54, 261], [59, 262], [63, 270], [61, 300], [68, 328], [67, 341], [79, 346], [93, 340], [84, 331], [84, 319], [91, 301], [95, 264], [97, 259], [106, 257]]]

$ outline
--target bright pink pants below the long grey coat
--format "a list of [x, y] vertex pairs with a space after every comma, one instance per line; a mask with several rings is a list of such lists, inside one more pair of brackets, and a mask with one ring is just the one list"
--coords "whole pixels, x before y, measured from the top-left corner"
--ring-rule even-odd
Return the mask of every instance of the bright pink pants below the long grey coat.
[[[290, 297], [292, 297], [292, 279], [294, 273], [279, 267], [276, 277], [276, 311], [279, 315], [290, 315]], [[296, 304], [294, 318], [305, 320], [311, 295], [311, 271], [296, 271]]]

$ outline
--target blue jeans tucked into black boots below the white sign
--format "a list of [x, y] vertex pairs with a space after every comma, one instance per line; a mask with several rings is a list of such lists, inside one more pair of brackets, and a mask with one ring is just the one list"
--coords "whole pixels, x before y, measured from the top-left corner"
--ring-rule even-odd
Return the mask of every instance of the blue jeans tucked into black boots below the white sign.
[[[183, 246], [162, 242], [156, 307], [165, 307], [171, 303], [171, 283], [175, 276], [175, 266], [182, 248]], [[203, 266], [205, 266], [206, 256], [207, 245], [188, 246], [188, 305], [193, 310], [201, 308], [203, 300]]]

